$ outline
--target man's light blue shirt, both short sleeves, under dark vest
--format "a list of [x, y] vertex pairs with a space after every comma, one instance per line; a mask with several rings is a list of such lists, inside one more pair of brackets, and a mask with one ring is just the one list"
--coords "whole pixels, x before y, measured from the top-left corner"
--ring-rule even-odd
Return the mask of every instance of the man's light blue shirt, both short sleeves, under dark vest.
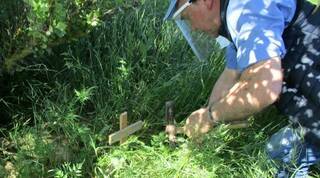
[[286, 53], [282, 33], [294, 17], [296, 0], [230, 0], [227, 26], [233, 43], [227, 47], [229, 69], [248, 66]]

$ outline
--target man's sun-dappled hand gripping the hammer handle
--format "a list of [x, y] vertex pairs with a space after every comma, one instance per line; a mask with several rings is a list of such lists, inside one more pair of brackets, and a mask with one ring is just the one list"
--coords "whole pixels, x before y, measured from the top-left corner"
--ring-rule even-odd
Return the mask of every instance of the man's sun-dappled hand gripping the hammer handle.
[[213, 127], [213, 121], [209, 117], [207, 108], [194, 111], [186, 121], [184, 132], [189, 138], [198, 138]]

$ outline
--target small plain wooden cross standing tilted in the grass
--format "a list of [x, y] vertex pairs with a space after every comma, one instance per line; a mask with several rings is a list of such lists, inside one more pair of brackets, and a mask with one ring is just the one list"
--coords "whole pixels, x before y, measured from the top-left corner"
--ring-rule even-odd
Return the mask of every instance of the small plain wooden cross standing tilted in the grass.
[[127, 140], [127, 137], [136, 131], [140, 130], [143, 126], [142, 121], [138, 121], [134, 124], [128, 126], [128, 113], [124, 112], [120, 115], [120, 130], [109, 135], [109, 145], [120, 141], [120, 144], [124, 143]]

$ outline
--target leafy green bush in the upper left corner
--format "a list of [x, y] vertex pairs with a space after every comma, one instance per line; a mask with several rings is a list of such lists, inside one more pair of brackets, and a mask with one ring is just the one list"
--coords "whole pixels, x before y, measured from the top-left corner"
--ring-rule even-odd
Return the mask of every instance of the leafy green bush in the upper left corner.
[[[103, 0], [13, 0], [1, 2], [1, 55], [5, 70], [31, 54], [79, 39], [124, 4]], [[128, 3], [128, 5], [130, 5]], [[123, 6], [123, 5], [122, 5]]]

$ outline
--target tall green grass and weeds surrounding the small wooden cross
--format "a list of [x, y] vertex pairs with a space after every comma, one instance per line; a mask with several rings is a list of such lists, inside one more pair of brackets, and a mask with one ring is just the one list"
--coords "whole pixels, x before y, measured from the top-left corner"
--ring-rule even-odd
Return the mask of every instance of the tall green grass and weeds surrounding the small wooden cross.
[[[218, 48], [197, 60], [174, 25], [163, 24], [166, 5], [116, 7], [88, 37], [30, 57], [37, 63], [10, 76], [1, 102], [13, 124], [2, 129], [0, 177], [272, 177], [264, 145], [286, 122], [273, 108], [248, 129], [219, 126], [202, 144], [168, 143], [164, 103], [174, 100], [183, 122], [206, 104], [224, 62]], [[108, 146], [123, 111], [145, 127]]]

